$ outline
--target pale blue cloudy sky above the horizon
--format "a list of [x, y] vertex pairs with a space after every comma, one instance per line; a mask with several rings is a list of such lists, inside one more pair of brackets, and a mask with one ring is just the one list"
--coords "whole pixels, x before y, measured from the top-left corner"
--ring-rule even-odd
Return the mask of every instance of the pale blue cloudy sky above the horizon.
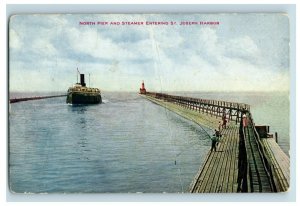
[[102, 91], [289, 91], [289, 42], [279, 13], [15, 15], [9, 90], [67, 91], [78, 68]]

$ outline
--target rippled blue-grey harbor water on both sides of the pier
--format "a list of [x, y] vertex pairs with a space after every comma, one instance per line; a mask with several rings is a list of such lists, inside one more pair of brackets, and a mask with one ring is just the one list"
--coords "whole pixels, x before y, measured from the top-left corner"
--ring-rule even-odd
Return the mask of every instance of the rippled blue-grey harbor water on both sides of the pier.
[[[282, 134], [289, 128], [284, 121], [289, 119], [288, 100], [280, 95], [185, 96], [245, 100], [237, 102], [251, 104], [256, 123], [270, 123]], [[104, 104], [90, 106], [67, 105], [64, 97], [11, 104], [11, 189], [21, 193], [187, 192], [210, 148], [205, 132], [134, 93], [106, 93], [103, 100]], [[283, 109], [278, 110], [280, 106]], [[289, 148], [288, 132], [279, 140]]]

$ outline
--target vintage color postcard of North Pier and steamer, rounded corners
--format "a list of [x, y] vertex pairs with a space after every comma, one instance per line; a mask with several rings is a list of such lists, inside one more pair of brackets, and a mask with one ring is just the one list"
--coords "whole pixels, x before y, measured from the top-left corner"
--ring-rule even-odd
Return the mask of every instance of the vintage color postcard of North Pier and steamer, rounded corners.
[[12, 193], [290, 187], [284, 13], [16, 14]]

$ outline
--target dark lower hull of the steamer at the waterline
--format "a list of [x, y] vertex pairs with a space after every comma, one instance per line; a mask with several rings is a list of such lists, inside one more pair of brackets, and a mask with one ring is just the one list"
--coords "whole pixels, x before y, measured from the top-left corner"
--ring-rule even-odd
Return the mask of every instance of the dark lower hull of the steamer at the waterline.
[[68, 104], [100, 104], [102, 97], [99, 93], [69, 92], [66, 102]]

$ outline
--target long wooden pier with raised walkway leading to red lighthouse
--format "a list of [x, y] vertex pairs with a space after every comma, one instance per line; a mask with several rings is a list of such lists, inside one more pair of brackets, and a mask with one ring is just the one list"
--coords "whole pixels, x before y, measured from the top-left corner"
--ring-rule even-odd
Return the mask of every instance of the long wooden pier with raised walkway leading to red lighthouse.
[[[222, 129], [217, 151], [208, 151], [190, 186], [192, 193], [283, 192], [289, 188], [289, 158], [273, 138], [260, 137], [247, 104], [147, 92], [148, 100], [191, 121]], [[247, 116], [243, 125], [242, 115]]]

